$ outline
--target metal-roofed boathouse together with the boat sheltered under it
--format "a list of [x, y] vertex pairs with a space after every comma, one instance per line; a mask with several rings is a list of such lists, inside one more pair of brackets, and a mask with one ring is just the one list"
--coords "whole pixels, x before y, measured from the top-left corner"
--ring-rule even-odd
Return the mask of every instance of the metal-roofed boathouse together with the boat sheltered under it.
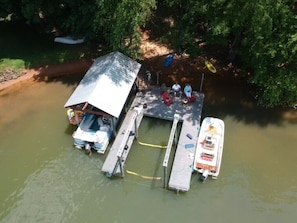
[[137, 89], [135, 80], [140, 67], [120, 52], [94, 61], [64, 105], [70, 124], [78, 125], [72, 134], [76, 148], [105, 153]]

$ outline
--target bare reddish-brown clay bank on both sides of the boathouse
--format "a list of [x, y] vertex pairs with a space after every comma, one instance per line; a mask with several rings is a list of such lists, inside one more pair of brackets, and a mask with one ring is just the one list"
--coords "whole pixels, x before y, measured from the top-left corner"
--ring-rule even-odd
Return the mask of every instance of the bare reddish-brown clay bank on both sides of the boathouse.
[[[213, 59], [212, 62], [216, 66], [218, 72], [216, 75], [210, 74], [210, 72], [205, 68], [201, 57], [194, 60], [188, 58], [187, 56], [175, 56], [172, 65], [166, 68], [164, 66], [164, 62], [166, 57], [172, 53], [172, 51], [165, 45], [160, 45], [151, 41], [149, 39], [148, 32], [143, 33], [143, 43], [141, 45], [141, 49], [144, 52], [141, 76], [145, 78], [145, 70], [150, 70], [152, 74], [152, 84], [156, 83], [157, 72], [161, 74], [159, 84], [166, 83], [169, 86], [174, 82], [179, 82], [181, 85], [190, 83], [195, 90], [199, 90], [200, 88], [202, 73], [206, 74], [207, 79], [213, 78], [214, 80], [223, 76], [224, 80], [227, 77], [231, 77], [233, 79], [233, 77], [238, 75], [234, 75], [232, 73], [233, 71], [230, 71], [228, 67], [227, 69], [220, 69], [221, 65], [217, 63], [216, 59]], [[47, 81], [61, 75], [84, 74], [89, 69], [92, 62], [93, 61], [91, 60], [79, 60], [57, 65], [48, 65], [38, 69], [28, 69], [21, 77], [4, 82], [2, 81], [2, 83], [0, 81], [0, 90], [24, 80]]]

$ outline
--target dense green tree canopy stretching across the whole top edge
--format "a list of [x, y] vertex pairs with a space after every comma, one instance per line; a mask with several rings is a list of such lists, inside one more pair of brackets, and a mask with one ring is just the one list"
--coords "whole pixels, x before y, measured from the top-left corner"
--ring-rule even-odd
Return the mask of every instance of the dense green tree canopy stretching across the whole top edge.
[[[221, 45], [229, 62], [251, 72], [258, 102], [297, 102], [296, 0], [0, 0], [8, 14], [46, 31], [86, 37], [140, 59], [141, 27], [172, 18], [162, 35], [176, 50], [199, 54], [197, 39]], [[157, 15], [157, 16], [156, 16]], [[164, 25], [164, 23], [162, 23]], [[154, 26], [152, 26], [154, 28]]]

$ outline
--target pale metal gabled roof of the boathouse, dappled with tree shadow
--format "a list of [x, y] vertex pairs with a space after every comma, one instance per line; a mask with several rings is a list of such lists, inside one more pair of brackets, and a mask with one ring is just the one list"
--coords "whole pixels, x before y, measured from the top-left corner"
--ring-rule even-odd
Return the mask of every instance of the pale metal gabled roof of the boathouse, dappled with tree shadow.
[[87, 103], [118, 118], [140, 67], [120, 52], [97, 58], [64, 107]]

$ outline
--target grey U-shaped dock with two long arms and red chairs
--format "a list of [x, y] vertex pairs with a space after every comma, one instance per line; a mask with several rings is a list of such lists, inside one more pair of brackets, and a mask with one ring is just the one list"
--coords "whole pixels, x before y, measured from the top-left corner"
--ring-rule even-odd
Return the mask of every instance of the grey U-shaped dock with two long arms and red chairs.
[[[164, 187], [176, 191], [188, 191], [193, 172], [192, 165], [200, 128], [204, 94], [193, 92], [196, 101], [190, 103], [184, 103], [183, 97], [172, 96], [173, 103], [167, 106], [162, 100], [163, 90], [161, 87], [151, 87], [149, 90], [137, 93], [103, 164], [102, 171], [107, 176], [114, 174], [124, 176], [120, 164], [125, 162], [133, 140], [137, 137], [137, 128], [143, 115], [169, 121], [174, 121], [178, 116], [179, 121], [182, 122], [182, 128], [178, 137], [170, 177], [168, 181], [166, 179]], [[140, 110], [141, 112], [139, 112]], [[131, 133], [133, 134], [131, 135]], [[172, 137], [169, 141], [172, 141]], [[167, 156], [169, 155], [167, 154]]]

